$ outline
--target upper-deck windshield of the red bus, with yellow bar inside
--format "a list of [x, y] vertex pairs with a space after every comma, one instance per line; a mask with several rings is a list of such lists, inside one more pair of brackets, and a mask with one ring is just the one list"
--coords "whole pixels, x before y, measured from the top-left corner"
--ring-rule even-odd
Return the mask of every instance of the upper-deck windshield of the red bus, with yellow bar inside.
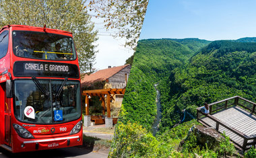
[[73, 38], [46, 32], [13, 31], [13, 53], [26, 58], [75, 60]]

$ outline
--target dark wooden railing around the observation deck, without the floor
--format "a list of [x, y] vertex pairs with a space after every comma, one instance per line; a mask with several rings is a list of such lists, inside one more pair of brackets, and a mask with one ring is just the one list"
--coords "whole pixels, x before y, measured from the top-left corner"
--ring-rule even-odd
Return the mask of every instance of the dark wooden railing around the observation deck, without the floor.
[[219, 130], [220, 126], [223, 126], [224, 128], [226, 128], [226, 130], [229, 130], [230, 132], [233, 132], [234, 134], [236, 134], [236, 136], [240, 136], [243, 139], [243, 145], [241, 145], [241, 143], [239, 144], [238, 142], [235, 142], [234, 139], [230, 138], [230, 140], [245, 151], [249, 149], [251, 145], [254, 145], [254, 146], [256, 145], [256, 135], [247, 136], [246, 134], [243, 134], [242, 132], [236, 130], [235, 128], [232, 128], [228, 124], [222, 122], [218, 118], [215, 118], [214, 116], [212, 116], [212, 114], [220, 110], [226, 109], [230, 106], [241, 106], [241, 108], [245, 109], [247, 112], [251, 114], [256, 113], [255, 111], [256, 104], [254, 102], [246, 100], [243, 97], [234, 96], [234, 97], [227, 98], [225, 100], [221, 100], [219, 102], [214, 102], [212, 104], [209, 104], [210, 114], [204, 114], [203, 112], [201, 112], [202, 107], [197, 108], [197, 121], [201, 122], [205, 126], [210, 126], [210, 124], [207, 124], [207, 122], [204, 122], [201, 119], [201, 116], [210, 118], [212, 121], [216, 123], [216, 126], [214, 128], [216, 128], [218, 132], [220, 132]]

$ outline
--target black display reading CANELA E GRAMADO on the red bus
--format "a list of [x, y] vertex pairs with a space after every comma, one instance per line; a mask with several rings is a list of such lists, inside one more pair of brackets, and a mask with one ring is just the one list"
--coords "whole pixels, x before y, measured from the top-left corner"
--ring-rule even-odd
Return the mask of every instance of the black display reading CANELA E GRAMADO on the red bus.
[[15, 62], [13, 74], [16, 77], [79, 77], [79, 71], [76, 65], [34, 61]]

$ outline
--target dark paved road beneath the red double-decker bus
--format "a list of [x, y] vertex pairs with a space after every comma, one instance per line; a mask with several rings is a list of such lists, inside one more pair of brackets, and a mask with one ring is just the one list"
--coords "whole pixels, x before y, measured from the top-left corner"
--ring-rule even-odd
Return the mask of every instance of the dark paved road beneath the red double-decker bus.
[[101, 158], [108, 157], [108, 151], [93, 151], [85, 149], [84, 147], [69, 147], [63, 149], [52, 149], [47, 151], [33, 151], [28, 153], [9, 153], [5, 149], [0, 148], [0, 157], [92, 157]]

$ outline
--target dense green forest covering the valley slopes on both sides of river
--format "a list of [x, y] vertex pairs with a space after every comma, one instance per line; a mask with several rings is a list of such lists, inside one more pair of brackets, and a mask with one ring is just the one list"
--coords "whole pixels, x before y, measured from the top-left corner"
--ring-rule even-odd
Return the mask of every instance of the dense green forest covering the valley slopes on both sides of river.
[[255, 39], [140, 40], [123, 101], [127, 120], [151, 128], [156, 116], [156, 83], [162, 105], [160, 133], [178, 124], [184, 109], [195, 116], [195, 108], [203, 102], [234, 95], [255, 102]]

